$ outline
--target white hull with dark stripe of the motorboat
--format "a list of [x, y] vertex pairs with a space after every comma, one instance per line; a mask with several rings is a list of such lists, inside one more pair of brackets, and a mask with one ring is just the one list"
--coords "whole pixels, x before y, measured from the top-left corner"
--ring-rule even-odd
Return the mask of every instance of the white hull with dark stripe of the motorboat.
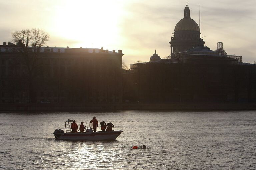
[[108, 131], [108, 132], [64, 132], [57, 133], [54, 132], [55, 139], [60, 140], [115, 140], [123, 130], [118, 131]]

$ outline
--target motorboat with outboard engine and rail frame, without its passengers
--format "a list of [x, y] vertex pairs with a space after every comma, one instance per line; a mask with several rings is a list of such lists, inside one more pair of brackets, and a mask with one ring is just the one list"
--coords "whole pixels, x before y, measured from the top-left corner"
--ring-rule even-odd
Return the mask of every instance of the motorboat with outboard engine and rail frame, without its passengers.
[[71, 123], [73, 121], [68, 119], [65, 122], [65, 129], [55, 129], [53, 132], [55, 139], [60, 140], [116, 140], [116, 138], [123, 132], [123, 130], [113, 131], [97, 131], [93, 132], [91, 124], [85, 125], [85, 132], [72, 132]]

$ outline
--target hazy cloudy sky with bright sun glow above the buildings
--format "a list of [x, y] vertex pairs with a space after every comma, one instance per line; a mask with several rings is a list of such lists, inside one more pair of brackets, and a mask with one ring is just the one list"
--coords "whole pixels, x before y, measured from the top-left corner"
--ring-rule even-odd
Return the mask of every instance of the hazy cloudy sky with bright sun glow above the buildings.
[[[0, 43], [11, 33], [40, 28], [52, 47], [122, 49], [125, 63], [149, 61], [155, 49], [170, 55], [170, 39], [184, 16], [182, 0], [0, 0]], [[205, 45], [223, 42], [228, 54], [256, 61], [255, 0], [191, 0], [190, 16], [199, 25]]]

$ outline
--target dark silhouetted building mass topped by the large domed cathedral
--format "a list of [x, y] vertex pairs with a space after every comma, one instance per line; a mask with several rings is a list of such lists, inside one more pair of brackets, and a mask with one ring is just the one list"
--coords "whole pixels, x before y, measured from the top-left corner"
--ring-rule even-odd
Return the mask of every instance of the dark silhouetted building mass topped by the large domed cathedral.
[[[171, 55], [130, 65], [124, 100], [130, 102], [255, 102], [256, 64], [204, 46], [186, 6], [171, 38]], [[155, 53], [152, 58], [155, 58]], [[158, 55], [157, 55], [158, 56]]]

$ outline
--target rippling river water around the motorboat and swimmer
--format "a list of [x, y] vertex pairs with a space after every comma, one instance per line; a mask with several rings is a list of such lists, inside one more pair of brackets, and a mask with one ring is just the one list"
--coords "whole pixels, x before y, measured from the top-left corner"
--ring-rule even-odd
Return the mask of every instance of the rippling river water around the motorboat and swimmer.
[[[116, 141], [55, 140], [93, 116]], [[256, 113], [120, 111], [0, 113], [0, 169], [256, 169]], [[147, 149], [132, 149], [145, 144]]]

